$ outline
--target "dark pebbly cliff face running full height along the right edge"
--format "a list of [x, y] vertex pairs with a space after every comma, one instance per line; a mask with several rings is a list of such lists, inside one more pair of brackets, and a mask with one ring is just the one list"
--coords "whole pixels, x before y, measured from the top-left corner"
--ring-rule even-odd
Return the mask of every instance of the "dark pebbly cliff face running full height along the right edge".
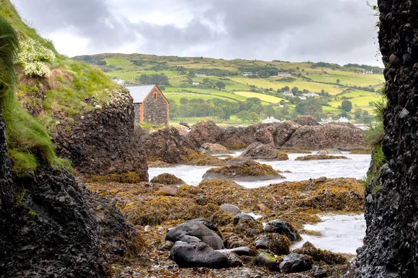
[[418, 277], [418, 3], [380, 0], [378, 7], [387, 65], [387, 163], [366, 190], [367, 231], [357, 277]]

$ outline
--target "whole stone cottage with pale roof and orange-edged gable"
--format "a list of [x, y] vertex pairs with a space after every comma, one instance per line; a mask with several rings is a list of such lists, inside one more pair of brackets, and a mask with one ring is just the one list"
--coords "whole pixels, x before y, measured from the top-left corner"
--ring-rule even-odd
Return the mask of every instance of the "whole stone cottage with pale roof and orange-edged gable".
[[157, 85], [127, 87], [134, 99], [135, 123], [169, 124], [169, 101]]

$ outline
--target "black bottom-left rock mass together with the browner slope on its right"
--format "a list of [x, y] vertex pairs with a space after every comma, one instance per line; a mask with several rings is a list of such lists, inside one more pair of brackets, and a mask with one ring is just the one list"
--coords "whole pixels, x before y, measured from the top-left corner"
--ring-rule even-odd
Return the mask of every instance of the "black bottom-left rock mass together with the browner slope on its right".
[[11, 179], [0, 122], [0, 277], [105, 277], [143, 244], [113, 202], [68, 172]]

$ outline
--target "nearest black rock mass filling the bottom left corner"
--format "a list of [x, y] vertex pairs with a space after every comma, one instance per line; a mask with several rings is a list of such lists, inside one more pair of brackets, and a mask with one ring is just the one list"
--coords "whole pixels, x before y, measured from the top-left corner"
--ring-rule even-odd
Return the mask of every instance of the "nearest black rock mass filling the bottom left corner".
[[13, 194], [12, 206], [1, 204], [0, 277], [106, 274], [97, 224], [70, 174], [45, 167]]

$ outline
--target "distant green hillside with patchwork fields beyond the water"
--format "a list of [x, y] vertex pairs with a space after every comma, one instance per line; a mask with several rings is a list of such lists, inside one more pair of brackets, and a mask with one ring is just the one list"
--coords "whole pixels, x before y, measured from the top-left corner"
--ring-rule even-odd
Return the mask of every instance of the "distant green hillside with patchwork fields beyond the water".
[[[341, 110], [341, 102], [348, 100], [353, 108], [346, 117], [355, 122], [369, 122], [372, 117], [368, 114], [373, 112], [371, 102], [380, 97], [380, 87], [384, 80], [381, 68], [357, 64], [341, 66], [330, 63], [224, 60], [144, 54], [97, 54], [77, 56], [75, 60], [97, 65], [112, 78], [123, 79], [127, 84], [159, 84], [171, 100], [172, 106], [173, 102], [175, 103], [176, 107], [171, 115], [174, 121], [194, 122], [202, 117], [212, 117], [217, 122], [227, 124], [242, 122], [242, 119], [236, 117], [239, 111], [233, 111], [231, 116], [226, 115], [224, 119], [222, 113], [215, 115], [215, 112], [212, 115], [194, 117], [196, 113], [190, 105], [185, 104], [184, 100], [183, 104], [180, 103], [182, 98], [192, 102], [213, 103], [213, 99], [217, 99], [217, 103], [219, 100], [240, 103], [248, 98], [257, 97], [265, 106], [261, 111], [253, 109], [258, 113], [259, 119], [269, 115], [286, 119], [296, 117], [301, 114], [300, 108], [296, 108], [301, 101], [300, 98], [282, 95], [283, 92], [293, 89], [296, 96], [307, 92], [320, 95], [315, 99], [322, 106], [322, 111], [319, 109], [316, 113], [302, 113], [315, 115], [318, 119], [334, 117], [336, 120], [341, 115], [346, 115]], [[374, 74], [370, 74], [371, 71]], [[243, 76], [244, 72], [257, 73], [258, 76]], [[279, 72], [291, 75], [277, 76]], [[222, 90], [217, 86], [219, 82], [224, 84]], [[194, 83], [199, 85], [193, 85]], [[284, 107], [280, 106], [280, 101]], [[228, 106], [228, 102], [225, 103], [222, 108]], [[178, 113], [177, 108], [180, 108], [181, 113]], [[249, 119], [247, 121], [251, 122]]]

